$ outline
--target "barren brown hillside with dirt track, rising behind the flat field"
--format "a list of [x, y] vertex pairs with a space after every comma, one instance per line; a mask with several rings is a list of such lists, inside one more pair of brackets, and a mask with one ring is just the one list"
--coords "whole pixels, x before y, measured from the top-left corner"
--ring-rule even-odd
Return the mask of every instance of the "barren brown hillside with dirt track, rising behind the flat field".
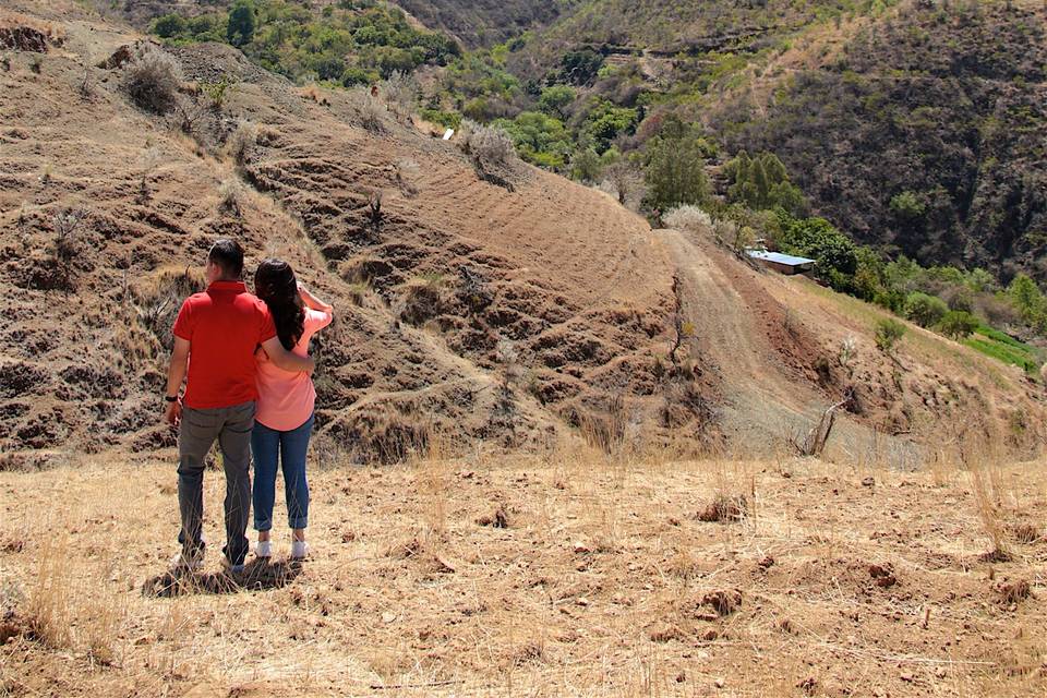
[[[875, 311], [827, 308], [810, 284], [518, 161], [488, 171], [384, 107], [369, 116], [362, 93], [297, 88], [200, 45], [170, 53], [180, 106], [157, 116], [120, 88], [140, 40], [125, 27], [55, 3], [2, 22], [40, 37], [0, 73], [9, 465], [173, 443], [156, 398], [169, 325], [222, 234], [335, 302], [320, 431], [360, 459], [436, 433], [534, 448], [575, 429], [610, 449], [766, 450], [849, 392], [851, 449], [870, 428], [919, 443], [970, 409], [1018, 424], [1015, 443], [1039, 431], [1043, 390], [1016, 373], [915, 328], [887, 357]], [[222, 77], [208, 106], [200, 85]]]

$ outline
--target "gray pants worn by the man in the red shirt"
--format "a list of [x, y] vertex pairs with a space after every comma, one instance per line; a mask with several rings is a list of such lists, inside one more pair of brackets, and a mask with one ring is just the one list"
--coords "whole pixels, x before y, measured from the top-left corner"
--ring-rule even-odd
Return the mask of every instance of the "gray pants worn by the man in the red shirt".
[[248, 516], [251, 513], [251, 430], [254, 402], [233, 407], [182, 409], [178, 434], [178, 508], [182, 552], [203, 550], [204, 466], [207, 452], [218, 440], [226, 471], [226, 557], [242, 565], [248, 556]]

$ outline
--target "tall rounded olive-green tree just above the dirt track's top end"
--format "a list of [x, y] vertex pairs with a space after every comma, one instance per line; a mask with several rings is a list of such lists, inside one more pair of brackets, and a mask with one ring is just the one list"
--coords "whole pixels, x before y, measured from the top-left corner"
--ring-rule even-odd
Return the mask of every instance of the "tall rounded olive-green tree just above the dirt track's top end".
[[707, 144], [693, 128], [676, 118], [666, 119], [643, 158], [647, 206], [665, 212], [679, 204], [706, 203], [710, 195], [707, 153]]

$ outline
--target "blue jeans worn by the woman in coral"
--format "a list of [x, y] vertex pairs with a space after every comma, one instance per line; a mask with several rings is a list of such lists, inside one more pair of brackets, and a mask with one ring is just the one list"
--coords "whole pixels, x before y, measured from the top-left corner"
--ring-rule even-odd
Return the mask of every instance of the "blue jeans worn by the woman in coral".
[[313, 417], [298, 429], [278, 432], [255, 422], [251, 432], [254, 454], [254, 529], [273, 528], [276, 501], [277, 461], [284, 468], [284, 495], [287, 498], [287, 525], [292, 529], [309, 525], [309, 482], [305, 480], [305, 453], [313, 431]]

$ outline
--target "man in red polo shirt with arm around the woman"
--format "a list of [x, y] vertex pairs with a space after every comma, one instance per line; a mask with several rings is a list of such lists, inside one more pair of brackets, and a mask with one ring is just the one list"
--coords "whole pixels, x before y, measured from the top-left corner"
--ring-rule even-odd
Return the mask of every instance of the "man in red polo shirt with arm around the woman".
[[[255, 350], [261, 345], [286, 371], [312, 373], [313, 360], [284, 348], [265, 303], [241, 280], [243, 248], [219, 240], [205, 267], [207, 290], [185, 299], [174, 321], [174, 350], [167, 372], [167, 421], [179, 426], [178, 507], [182, 552], [176, 569], [203, 565], [204, 459], [218, 440], [226, 471], [226, 563], [239, 573], [248, 554], [251, 506], [251, 430], [254, 428]], [[179, 389], [186, 370], [185, 395]]]

